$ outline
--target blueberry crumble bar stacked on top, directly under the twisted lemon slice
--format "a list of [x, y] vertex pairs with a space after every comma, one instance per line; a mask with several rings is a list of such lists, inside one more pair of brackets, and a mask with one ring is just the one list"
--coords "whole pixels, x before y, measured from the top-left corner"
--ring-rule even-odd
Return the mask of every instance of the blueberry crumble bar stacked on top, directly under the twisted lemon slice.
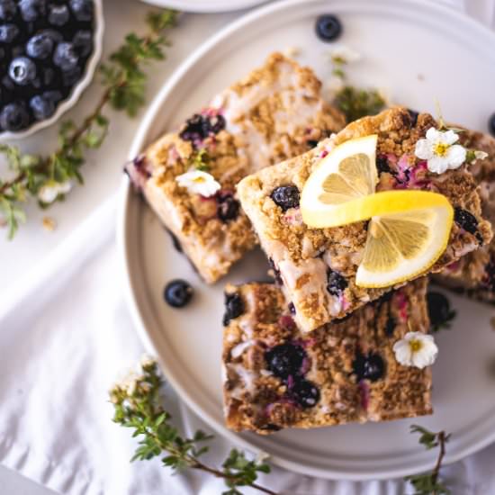
[[[455, 207], [456, 221], [446, 249], [428, 273], [441, 271], [491, 240], [491, 226], [482, 218], [477, 183], [467, 166], [436, 174], [415, 155], [419, 139], [437, 127], [428, 113], [416, 115], [392, 108], [350, 123], [301, 157], [267, 167], [238, 184], [242, 208], [266, 251], [275, 280], [293, 303], [294, 318], [302, 330], [318, 329], [343, 318], [392, 289], [356, 284], [356, 270], [365, 250], [366, 221], [331, 229], [311, 229], [302, 221], [302, 187], [323, 157], [349, 139], [377, 136], [377, 192], [422, 189], [444, 194]], [[463, 226], [466, 216], [476, 221], [474, 229]]]

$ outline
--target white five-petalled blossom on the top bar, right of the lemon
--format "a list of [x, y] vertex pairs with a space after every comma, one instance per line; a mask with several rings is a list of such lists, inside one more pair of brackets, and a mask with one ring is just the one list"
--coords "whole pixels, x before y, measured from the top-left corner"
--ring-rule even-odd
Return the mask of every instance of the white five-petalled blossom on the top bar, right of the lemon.
[[427, 160], [428, 170], [443, 174], [446, 170], [459, 168], [466, 160], [466, 149], [454, 144], [459, 139], [454, 130], [437, 130], [430, 127], [426, 139], [416, 143], [415, 155]]

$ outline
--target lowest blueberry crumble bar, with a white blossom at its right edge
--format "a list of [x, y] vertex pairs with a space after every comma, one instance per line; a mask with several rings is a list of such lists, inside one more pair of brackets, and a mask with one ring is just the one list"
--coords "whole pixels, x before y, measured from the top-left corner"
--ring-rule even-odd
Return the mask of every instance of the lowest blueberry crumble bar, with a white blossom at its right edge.
[[394, 344], [428, 333], [425, 277], [303, 333], [275, 284], [229, 285], [223, 335], [228, 428], [268, 434], [431, 414], [431, 372]]

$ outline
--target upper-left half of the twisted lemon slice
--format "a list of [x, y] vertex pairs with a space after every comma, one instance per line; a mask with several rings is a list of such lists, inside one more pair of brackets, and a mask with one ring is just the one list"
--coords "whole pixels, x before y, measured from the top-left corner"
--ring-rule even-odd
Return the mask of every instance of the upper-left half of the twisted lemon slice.
[[[374, 193], [378, 182], [376, 141], [376, 135], [350, 139], [321, 160], [302, 189], [304, 223], [316, 228], [335, 227], [329, 220], [336, 211], [347, 211], [348, 202]], [[342, 224], [339, 220], [338, 225]]]

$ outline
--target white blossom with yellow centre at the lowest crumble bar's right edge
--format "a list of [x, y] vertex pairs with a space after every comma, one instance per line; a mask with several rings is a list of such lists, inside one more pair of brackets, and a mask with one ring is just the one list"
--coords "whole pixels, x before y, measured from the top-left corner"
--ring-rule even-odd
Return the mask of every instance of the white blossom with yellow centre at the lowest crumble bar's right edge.
[[431, 335], [421, 332], [408, 332], [393, 345], [395, 359], [404, 366], [423, 369], [435, 363], [438, 347]]

